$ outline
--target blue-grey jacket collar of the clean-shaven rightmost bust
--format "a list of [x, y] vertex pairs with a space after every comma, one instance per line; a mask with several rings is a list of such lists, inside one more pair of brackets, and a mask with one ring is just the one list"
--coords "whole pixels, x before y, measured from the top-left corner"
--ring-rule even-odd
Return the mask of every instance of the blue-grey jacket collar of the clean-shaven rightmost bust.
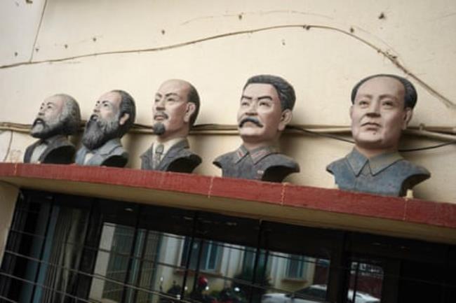
[[361, 174], [361, 170], [363, 170], [363, 167], [366, 164], [369, 166], [371, 174], [375, 176], [384, 169], [387, 169], [387, 167], [391, 166], [391, 164], [394, 164], [395, 162], [402, 159], [403, 157], [401, 157], [398, 152], [383, 153], [369, 159], [368, 157], [365, 157], [359, 153], [356, 148], [353, 148], [353, 150], [351, 150], [351, 153], [347, 155], [347, 161], [349, 162], [350, 167], [356, 176], [359, 176], [359, 174]]

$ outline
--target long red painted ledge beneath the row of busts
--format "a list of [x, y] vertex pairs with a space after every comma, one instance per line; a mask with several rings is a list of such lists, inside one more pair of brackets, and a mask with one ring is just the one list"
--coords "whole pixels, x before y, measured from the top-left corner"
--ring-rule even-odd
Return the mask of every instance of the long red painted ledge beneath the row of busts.
[[0, 163], [0, 180], [67, 181], [161, 190], [203, 197], [288, 206], [297, 209], [397, 220], [456, 229], [456, 204], [384, 197], [288, 183], [112, 167]]

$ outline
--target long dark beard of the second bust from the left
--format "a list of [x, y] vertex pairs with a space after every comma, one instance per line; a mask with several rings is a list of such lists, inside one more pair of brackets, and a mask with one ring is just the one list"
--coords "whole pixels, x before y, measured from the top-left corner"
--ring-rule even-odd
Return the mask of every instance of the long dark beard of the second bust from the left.
[[82, 143], [89, 150], [94, 150], [116, 137], [119, 137], [119, 125], [116, 118], [110, 121], [90, 118], [82, 136]]

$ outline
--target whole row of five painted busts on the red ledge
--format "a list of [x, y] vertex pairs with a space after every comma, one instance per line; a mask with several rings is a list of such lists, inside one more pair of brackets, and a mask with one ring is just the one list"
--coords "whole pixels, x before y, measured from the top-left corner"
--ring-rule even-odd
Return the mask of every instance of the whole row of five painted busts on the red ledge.
[[[297, 162], [275, 147], [291, 121], [295, 99], [293, 86], [279, 76], [247, 80], [237, 115], [243, 144], [213, 162], [222, 169], [222, 176], [281, 182], [300, 171]], [[416, 101], [412, 83], [396, 75], [369, 76], [354, 86], [350, 116], [355, 148], [327, 167], [339, 188], [403, 196], [429, 178], [429, 171], [397, 152]], [[201, 157], [190, 150], [187, 135], [199, 107], [199, 94], [191, 83], [172, 79], [159, 87], [152, 105], [156, 140], [141, 155], [141, 169], [192, 173]], [[76, 100], [67, 94], [48, 97], [31, 129], [39, 140], [27, 148], [24, 162], [124, 167], [128, 153], [120, 139], [133, 125], [135, 112], [135, 101], [127, 92], [102, 94], [76, 151], [67, 140], [81, 124]]]

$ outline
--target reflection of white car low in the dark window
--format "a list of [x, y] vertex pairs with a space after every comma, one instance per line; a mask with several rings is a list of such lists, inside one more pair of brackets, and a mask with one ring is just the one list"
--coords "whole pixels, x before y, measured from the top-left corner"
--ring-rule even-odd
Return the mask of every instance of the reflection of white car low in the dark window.
[[[326, 285], [312, 285], [307, 288], [297, 290], [295, 293], [268, 293], [263, 295], [261, 303], [315, 303], [325, 302]], [[349, 303], [352, 303], [353, 290], [349, 290]], [[354, 303], [380, 303], [376, 297], [356, 291]]]

